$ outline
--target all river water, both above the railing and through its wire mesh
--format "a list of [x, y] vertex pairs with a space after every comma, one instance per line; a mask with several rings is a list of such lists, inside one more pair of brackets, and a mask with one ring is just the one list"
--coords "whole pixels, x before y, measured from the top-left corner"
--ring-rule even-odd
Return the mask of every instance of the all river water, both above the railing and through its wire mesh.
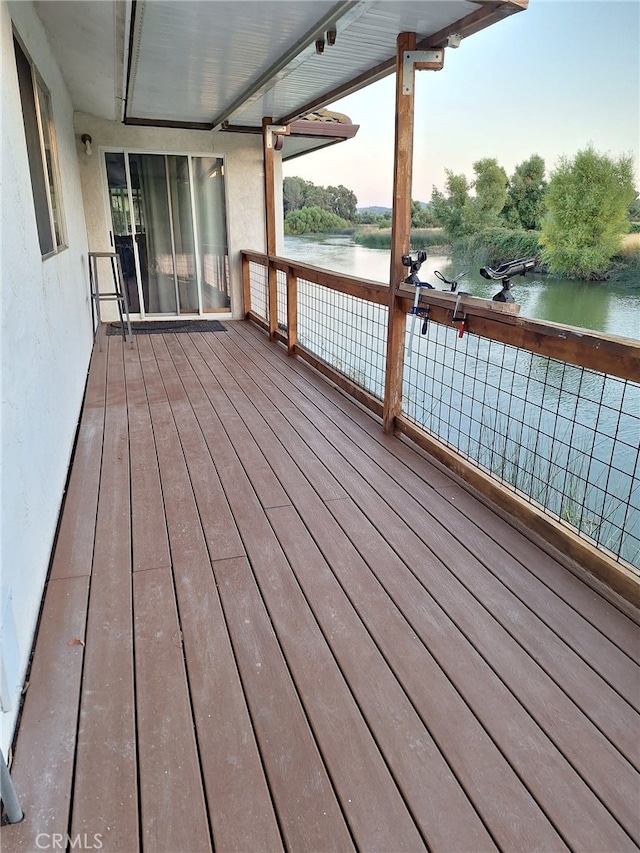
[[[286, 237], [284, 255], [388, 283], [389, 252], [350, 237]], [[447, 257], [429, 256], [420, 279], [438, 289], [435, 270], [449, 278], [460, 272]], [[469, 270], [460, 289], [490, 299], [500, 286]], [[624, 287], [527, 275], [513, 279], [512, 292], [521, 316], [640, 338], [640, 282]], [[322, 311], [307, 305], [304, 288], [299, 298], [301, 343], [381, 397], [379, 309], [369, 306], [345, 321], [331, 291]], [[473, 335], [458, 341], [445, 327], [428, 329], [425, 337], [407, 336], [403, 406], [409, 417], [640, 571], [640, 385]]]

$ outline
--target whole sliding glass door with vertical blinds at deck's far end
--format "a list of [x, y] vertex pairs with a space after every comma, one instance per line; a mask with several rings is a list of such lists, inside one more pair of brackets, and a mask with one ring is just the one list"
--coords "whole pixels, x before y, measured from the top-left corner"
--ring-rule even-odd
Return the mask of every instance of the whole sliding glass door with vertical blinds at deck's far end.
[[106, 152], [105, 166], [131, 311], [142, 317], [229, 311], [222, 160]]

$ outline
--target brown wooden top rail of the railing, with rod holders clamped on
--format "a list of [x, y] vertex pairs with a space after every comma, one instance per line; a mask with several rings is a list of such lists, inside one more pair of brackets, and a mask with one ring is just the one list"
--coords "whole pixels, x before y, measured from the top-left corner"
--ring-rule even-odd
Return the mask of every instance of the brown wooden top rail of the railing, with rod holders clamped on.
[[[271, 263], [285, 272], [290, 269], [296, 276], [332, 290], [379, 305], [389, 302], [389, 287], [380, 282], [323, 270], [289, 258], [269, 257], [261, 252], [244, 251], [242, 254], [247, 260], [265, 265]], [[410, 313], [413, 288], [405, 290], [399, 286], [398, 296], [406, 302], [407, 313]], [[452, 318], [456, 301], [456, 294], [430, 290], [420, 295], [419, 304], [423, 308], [429, 307], [431, 321], [454, 326]], [[640, 341], [521, 317], [517, 313], [496, 310], [489, 300], [474, 297], [463, 297], [458, 305], [458, 312], [461, 311], [466, 314], [466, 329], [472, 334], [621, 379], [640, 381]]]

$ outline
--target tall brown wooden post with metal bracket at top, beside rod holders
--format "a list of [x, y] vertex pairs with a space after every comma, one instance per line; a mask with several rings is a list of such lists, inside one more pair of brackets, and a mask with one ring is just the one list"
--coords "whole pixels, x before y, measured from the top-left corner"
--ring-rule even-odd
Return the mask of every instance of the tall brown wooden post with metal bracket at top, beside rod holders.
[[[397, 289], [404, 278], [402, 256], [411, 244], [411, 184], [413, 173], [413, 108], [414, 87], [410, 94], [402, 91], [403, 53], [415, 50], [415, 33], [400, 33], [396, 43], [396, 135], [393, 171], [393, 214], [391, 220], [391, 268], [389, 279], [389, 326], [387, 332], [387, 365], [384, 388], [382, 426], [393, 432], [396, 417], [402, 411], [402, 374], [406, 314]], [[411, 74], [415, 76], [413, 66]]]

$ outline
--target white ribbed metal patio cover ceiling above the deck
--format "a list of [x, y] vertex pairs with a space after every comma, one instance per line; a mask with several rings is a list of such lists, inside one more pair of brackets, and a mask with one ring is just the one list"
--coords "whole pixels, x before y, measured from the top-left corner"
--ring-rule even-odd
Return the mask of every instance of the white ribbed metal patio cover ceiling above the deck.
[[[246, 131], [261, 128], [264, 116], [289, 124], [391, 73], [400, 32], [415, 32], [419, 49], [442, 47], [449, 34], [471, 35], [527, 3], [38, 0], [34, 7], [76, 109], [127, 124]], [[336, 134], [344, 136], [337, 124]], [[320, 142], [313, 132], [309, 139]], [[326, 132], [322, 139], [335, 141]]]

